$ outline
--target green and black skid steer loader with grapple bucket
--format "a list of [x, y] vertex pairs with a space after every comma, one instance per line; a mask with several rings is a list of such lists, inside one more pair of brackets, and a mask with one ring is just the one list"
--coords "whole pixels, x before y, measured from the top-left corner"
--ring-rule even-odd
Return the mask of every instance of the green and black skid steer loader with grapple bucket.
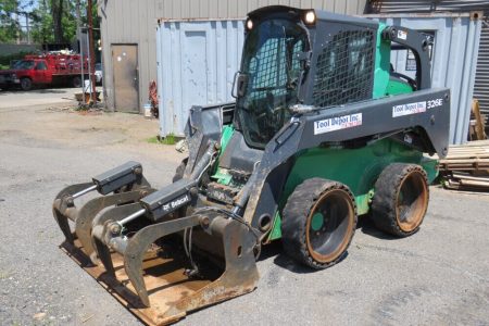
[[[153, 189], [128, 162], [63, 189], [62, 249], [160, 325], [252, 291], [275, 239], [322, 269], [344, 256], [359, 215], [414, 234], [437, 175], [429, 155], [444, 156], [449, 138], [450, 91], [430, 87], [429, 46], [366, 18], [249, 13], [236, 101], [190, 109], [173, 184]], [[392, 71], [398, 50], [414, 54], [415, 78]]]

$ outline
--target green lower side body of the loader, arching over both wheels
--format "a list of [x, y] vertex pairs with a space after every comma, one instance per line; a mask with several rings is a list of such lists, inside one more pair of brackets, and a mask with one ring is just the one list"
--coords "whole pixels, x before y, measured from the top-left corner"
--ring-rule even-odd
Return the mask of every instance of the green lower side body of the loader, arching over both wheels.
[[[394, 162], [421, 164], [428, 174], [429, 183], [437, 176], [437, 161], [389, 138], [359, 149], [318, 147], [298, 153], [278, 211], [281, 211], [298, 185], [313, 177], [322, 177], [347, 185], [355, 197], [358, 214], [366, 214], [374, 195], [375, 181], [381, 171]], [[281, 237], [280, 218], [277, 212], [267, 241]]]

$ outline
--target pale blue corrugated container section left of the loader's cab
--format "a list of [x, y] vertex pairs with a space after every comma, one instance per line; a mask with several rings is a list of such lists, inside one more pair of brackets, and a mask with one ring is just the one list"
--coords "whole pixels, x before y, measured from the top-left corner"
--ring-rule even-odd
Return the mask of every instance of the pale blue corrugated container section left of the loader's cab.
[[156, 29], [160, 135], [184, 135], [192, 105], [233, 100], [242, 21], [160, 22]]

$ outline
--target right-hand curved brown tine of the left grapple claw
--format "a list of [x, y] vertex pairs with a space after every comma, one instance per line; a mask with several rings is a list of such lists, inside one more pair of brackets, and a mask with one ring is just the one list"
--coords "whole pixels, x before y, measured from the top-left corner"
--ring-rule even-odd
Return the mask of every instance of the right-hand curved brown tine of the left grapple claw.
[[92, 222], [100, 211], [111, 205], [121, 205], [124, 203], [138, 201], [149, 192], [151, 191], [148, 189], [140, 189], [135, 191], [114, 193], [111, 196], [93, 198], [92, 200], [84, 204], [79, 209], [78, 215], [75, 221], [75, 233], [79, 241], [82, 242], [85, 253], [90, 256], [93, 252], [93, 246], [91, 242], [91, 228]]

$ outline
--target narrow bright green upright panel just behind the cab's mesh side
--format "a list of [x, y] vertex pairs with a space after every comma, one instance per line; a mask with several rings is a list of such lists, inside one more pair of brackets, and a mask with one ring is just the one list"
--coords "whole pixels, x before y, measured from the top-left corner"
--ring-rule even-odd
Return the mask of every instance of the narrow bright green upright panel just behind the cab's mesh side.
[[377, 45], [375, 53], [374, 91], [373, 98], [378, 99], [386, 96], [389, 84], [390, 71], [390, 41], [383, 39], [383, 30], [386, 24], [379, 23], [377, 29]]

